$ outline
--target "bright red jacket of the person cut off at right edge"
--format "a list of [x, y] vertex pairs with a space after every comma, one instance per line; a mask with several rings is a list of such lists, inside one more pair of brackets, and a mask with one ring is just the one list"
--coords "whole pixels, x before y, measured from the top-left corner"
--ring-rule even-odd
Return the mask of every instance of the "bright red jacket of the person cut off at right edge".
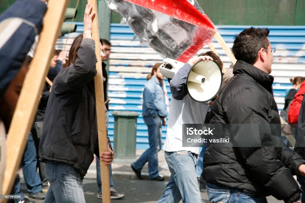
[[298, 123], [299, 112], [300, 112], [304, 93], [305, 93], [305, 81], [302, 82], [299, 91], [296, 92], [296, 95], [294, 96], [294, 100], [290, 104], [289, 111], [288, 111], [288, 122], [290, 124]]

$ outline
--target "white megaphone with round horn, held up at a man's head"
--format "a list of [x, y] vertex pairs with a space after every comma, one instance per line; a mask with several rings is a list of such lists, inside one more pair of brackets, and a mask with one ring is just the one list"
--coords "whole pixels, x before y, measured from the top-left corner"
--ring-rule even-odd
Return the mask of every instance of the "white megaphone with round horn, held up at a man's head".
[[[173, 78], [184, 65], [179, 61], [164, 59], [160, 72], [167, 78]], [[197, 102], [213, 100], [220, 91], [222, 84], [222, 70], [214, 61], [199, 60], [195, 63], [186, 78], [189, 96]]]

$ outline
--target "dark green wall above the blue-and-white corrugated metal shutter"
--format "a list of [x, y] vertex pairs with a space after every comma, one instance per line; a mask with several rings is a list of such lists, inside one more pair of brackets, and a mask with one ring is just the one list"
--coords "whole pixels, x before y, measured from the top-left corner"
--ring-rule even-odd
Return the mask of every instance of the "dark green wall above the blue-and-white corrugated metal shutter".
[[[197, 0], [215, 25], [305, 25], [305, 0]], [[0, 1], [0, 14], [14, 0]], [[77, 0], [70, 0], [75, 7]], [[80, 0], [77, 17], [84, 18], [86, 0]], [[119, 13], [111, 12], [111, 22], [120, 23]]]

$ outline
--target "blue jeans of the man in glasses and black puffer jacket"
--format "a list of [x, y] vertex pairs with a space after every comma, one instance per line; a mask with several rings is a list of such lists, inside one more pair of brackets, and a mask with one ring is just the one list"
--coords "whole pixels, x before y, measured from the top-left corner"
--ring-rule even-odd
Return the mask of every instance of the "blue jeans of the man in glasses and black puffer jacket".
[[206, 185], [206, 191], [209, 195], [210, 202], [213, 203], [267, 203], [267, 199], [264, 196], [233, 187], [218, 187], [208, 183]]

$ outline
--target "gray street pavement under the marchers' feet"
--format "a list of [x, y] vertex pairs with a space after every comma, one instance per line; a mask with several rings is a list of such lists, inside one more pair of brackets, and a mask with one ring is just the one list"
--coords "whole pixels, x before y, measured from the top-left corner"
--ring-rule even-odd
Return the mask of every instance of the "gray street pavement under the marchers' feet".
[[[137, 150], [137, 158], [144, 152], [144, 150]], [[111, 202], [117, 203], [156, 203], [159, 198], [162, 196], [163, 191], [166, 188], [167, 181], [170, 176], [165, 158], [164, 151], [160, 151], [158, 155], [159, 159], [159, 171], [160, 175], [165, 177], [164, 182], [150, 181], [148, 179], [148, 167], [147, 164], [142, 169], [142, 174], [144, 175], [144, 180], [139, 180], [136, 178], [134, 172], [132, 171], [130, 164], [131, 163], [116, 163], [112, 164], [113, 170], [113, 180], [114, 188], [125, 194], [125, 197], [120, 200], [112, 200]], [[21, 190], [28, 195], [27, 188], [21, 176]], [[95, 161], [92, 162], [88, 174], [84, 177], [84, 195], [87, 203], [102, 202], [101, 199], [96, 198], [96, 193], [98, 190], [96, 184], [96, 169]], [[206, 192], [201, 193], [202, 202], [209, 203], [208, 196]], [[29, 198], [31, 199], [31, 198]], [[34, 200], [34, 199], [31, 199]], [[283, 201], [278, 201], [273, 197], [267, 197], [268, 203], [278, 203]], [[43, 200], [34, 200], [36, 203], [42, 203]], [[181, 201], [182, 202], [182, 201]]]

